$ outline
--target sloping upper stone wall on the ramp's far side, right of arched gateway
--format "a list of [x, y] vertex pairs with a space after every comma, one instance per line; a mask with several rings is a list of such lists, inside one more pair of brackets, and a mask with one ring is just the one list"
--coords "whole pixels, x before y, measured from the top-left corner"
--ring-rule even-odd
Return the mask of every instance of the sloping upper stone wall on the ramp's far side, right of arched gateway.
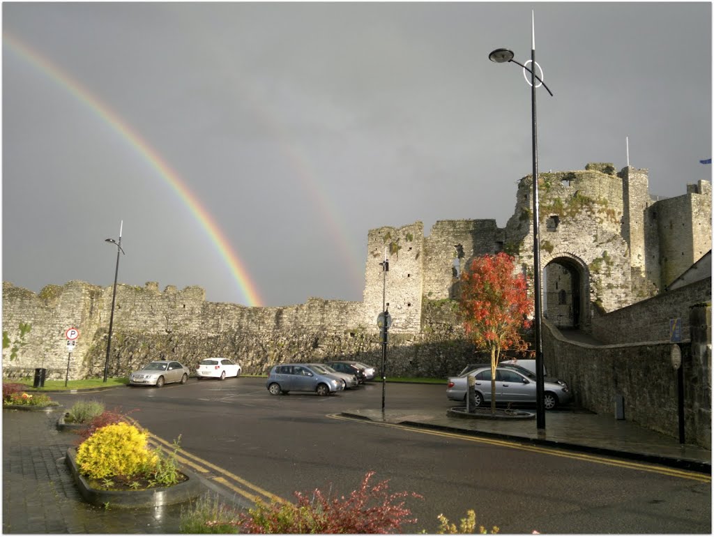
[[604, 343], [670, 341], [669, 321], [680, 318], [682, 338], [689, 340], [689, 309], [710, 301], [711, 277], [660, 294], [627, 308], [593, 318], [593, 337]]

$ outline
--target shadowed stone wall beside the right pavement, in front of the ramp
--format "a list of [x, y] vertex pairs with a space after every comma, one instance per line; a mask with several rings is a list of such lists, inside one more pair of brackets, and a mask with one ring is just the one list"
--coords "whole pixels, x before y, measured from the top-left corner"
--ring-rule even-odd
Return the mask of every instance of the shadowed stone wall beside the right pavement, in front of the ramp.
[[[710, 334], [711, 323], [703, 333]], [[677, 371], [671, 343], [591, 346], [565, 340], [545, 321], [543, 361], [548, 374], [573, 391], [575, 404], [614, 419], [615, 396], [623, 396], [625, 419], [678, 438]], [[711, 346], [680, 343], [685, 377], [685, 441], [711, 448]], [[702, 359], [702, 356], [708, 356]]]

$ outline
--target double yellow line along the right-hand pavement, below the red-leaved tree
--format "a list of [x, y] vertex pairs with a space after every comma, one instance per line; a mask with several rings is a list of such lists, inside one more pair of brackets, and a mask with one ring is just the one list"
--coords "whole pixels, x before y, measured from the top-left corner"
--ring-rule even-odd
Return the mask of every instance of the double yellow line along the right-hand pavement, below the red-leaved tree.
[[391, 427], [402, 429], [403, 431], [411, 431], [422, 434], [428, 434], [431, 436], [442, 436], [445, 438], [455, 438], [458, 440], [485, 443], [491, 446], [502, 446], [506, 448], [518, 449], [521, 451], [532, 451], [533, 453], [541, 453], [543, 455], [551, 455], [563, 458], [573, 458], [578, 461], [587, 461], [598, 464], [605, 464], [607, 466], [618, 466], [620, 468], [630, 468], [631, 470], [640, 470], [651, 473], [660, 473], [664, 476], [678, 477], [683, 479], [691, 479], [693, 481], [700, 481], [700, 483], [711, 483], [712, 478], [705, 473], [690, 472], [686, 470], [678, 470], [677, 468], [668, 468], [667, 466], [658, 466], [656, 464], [645, 464], [637, 463], [634, 461], [627, 461], [625, 459], [609, 458], [596, 455], [588, 455], [588, 453], [578, 453], [575, 451], [564, 451], [558, 448], [547, 448], [540, 446], [532, 446], [526, 443], [520, 443], [517, 441], [508, 440], [498, 440], [498, 438], [485, 438], [478, 436], [471, 436], [462, 433], [449, 433], [446, 431], [433, 431], [430, 429], [425, 429], [421, 427], [414, 427], [408, 425], [401, 425], [400, 423], [383, 423], [379, 421], [364, 420], [360, 418], [349, 418], [347, 416], [339, 416], [338, 414], [331, 414], [328, 416], [330, 418], [344, 420], [344, 421], [358, 421], [360, 423], [370, 423], [376, 426]]

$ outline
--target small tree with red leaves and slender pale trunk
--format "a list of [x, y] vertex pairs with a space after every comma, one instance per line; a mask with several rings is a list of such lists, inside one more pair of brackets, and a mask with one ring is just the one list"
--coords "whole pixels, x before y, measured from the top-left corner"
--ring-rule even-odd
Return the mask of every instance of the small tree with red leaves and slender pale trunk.
[[476, 348], [491, 352], [491, 412], [496, 411], [496, 365], [501, 351], [525, 351], [522, 329], [531, 326], [533, 303], [526, 276], [514, 271], [513, 257], [501, 252], [477, 257], [461, 274], [459, 311]]

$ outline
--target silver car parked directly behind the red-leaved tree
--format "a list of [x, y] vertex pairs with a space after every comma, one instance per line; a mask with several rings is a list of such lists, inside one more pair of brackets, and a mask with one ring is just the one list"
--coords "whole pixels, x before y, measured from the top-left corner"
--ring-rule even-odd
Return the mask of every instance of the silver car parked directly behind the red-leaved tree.
[[[473, 376], [476, 391], [476, 406], [491, 402], [491, 368], [481, 368], [467, 375], [448, 379], [446, 397], [453, 401], [466, 401], [468, 377]], [[573, 395], [568, 386], [558, 383], [543, 383], [543, 402], [551, 410], [558, 405], [570, 403]], [[511, 368], [496, 368], [496, 403], [535, 403], [535, 381]]]

